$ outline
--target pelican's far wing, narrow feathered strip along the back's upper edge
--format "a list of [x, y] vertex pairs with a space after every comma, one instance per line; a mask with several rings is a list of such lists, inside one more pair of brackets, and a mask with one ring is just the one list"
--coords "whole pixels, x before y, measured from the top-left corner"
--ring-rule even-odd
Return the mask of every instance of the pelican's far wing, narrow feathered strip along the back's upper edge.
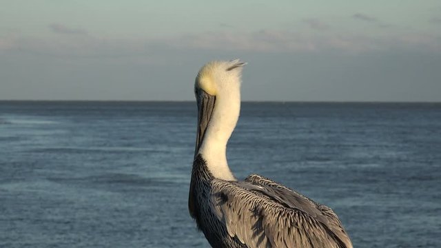
[[[351, 240], [349, 239], [349, 236], [347, 235], [345, 229], [343, 228], [342, 223], [340, 222], [340, 219], [338, 219], [338, 216], [334, 211], [327, 207], [326, 205], [321, 205], [319, 203], [314, 202], [314, 200], [311, 200], [307, 196], [303, 196], [302, 194], [289, 189], [280, 183], [274, 182], [274, 180], [265, 178], [264, 176], [252, 174], [249, 175], [247, 178], [245, 178], [245, 182], [247, 183], [253, 183], [256, 185], [265, 185], [266, 188], [273, 189], [276, 193], [276, 195], [280, 196], [282, 200], [291, 205], [298, 205], [296, 203], [296, 199], [303, 198], [305, 201], [309, 202], [310, 204], [314, 205], [317, 211], [320, 212], [318, 214], [318, 220], [322, 223], [327, 225], [327, 227], [332, 231], [332, 233], [340, 239], [346, 247], [352, 247]], [[317, 213], [316, 211], [313, 211], [314, 213]], [[309, 213], [311, 214], [311, 213]]]

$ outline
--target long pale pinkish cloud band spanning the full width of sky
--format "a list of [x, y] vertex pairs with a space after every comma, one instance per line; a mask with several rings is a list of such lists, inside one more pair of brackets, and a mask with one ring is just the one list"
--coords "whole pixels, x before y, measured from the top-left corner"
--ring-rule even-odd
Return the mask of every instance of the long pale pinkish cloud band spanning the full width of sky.
[[[163, 39], [111, 39], [91, 35], [59, 36], [54, 39], [0, 37], [1, 50], [19, 50], [48, 56], [143, 58], [172, 51], [224, 52], [371, 52], [381, 50], [427, 50], [441, 53], [441, 39], [434, 34], [388, 32], [383, 36], [335, 32], [203, 32]], [[156, 56], [155, 55], [155, 56]]]

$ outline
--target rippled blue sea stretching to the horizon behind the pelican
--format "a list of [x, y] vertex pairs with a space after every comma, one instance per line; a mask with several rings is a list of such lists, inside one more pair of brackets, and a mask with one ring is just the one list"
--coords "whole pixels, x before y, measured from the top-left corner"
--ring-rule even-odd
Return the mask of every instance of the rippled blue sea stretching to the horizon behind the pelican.
[[[194, 103], [0, 102], [0, 247], [209, 247], [187, 211]], [[441, 247], [441, 104], [244, 103], [228, 148], [354, 247]]]

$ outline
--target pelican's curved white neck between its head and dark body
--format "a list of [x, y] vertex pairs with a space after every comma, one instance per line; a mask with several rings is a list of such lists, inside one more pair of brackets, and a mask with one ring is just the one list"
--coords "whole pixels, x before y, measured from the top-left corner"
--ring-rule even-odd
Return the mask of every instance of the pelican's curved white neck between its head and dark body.
[[236, 180], [227, 163], [227, 142], [240, 112], [240, 85], [235, 86], [216, 95], [212, 118], [199, 149], [213, 176], [224, 180]]

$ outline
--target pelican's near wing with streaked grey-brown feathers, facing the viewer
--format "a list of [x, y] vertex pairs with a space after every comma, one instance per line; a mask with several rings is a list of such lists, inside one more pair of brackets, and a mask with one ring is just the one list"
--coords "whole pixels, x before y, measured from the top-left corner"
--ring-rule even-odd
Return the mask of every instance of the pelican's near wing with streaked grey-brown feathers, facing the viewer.
[[216, 216], [247, 247], [352, 247], [322, 223], [313, 203], [275, 192], [256, 183], [212, 181]]

